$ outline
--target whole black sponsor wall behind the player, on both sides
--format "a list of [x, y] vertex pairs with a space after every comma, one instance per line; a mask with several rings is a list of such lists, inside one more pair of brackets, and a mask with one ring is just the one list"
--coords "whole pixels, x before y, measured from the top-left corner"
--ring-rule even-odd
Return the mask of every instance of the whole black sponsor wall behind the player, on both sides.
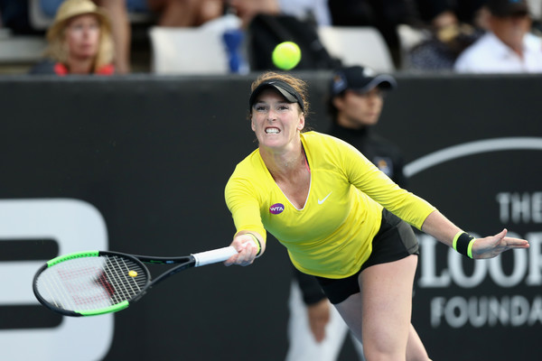
[[[311, 85], [309, 122], [325, 131], [329, 74], [300, 76]], [[223, 188], [256, 147], [252, 79], [0, 79], [0, 199], [85, 200], [104, 216], [113, 250], [177, 255], [228, 245], [234, 228]], [[527, 346], [542, 330], [542, 77], [397, 80], [378, 131], [404, 150], [409, 189], [472, 233], [507, 227], [535, 245], [472, 263], [421, 236], [413, 323], [433, 359], [539, 359]], [[42, 245], [32, 247], [37, 258], [51, 252]], [[270, 239], [250, 267], [180, 274], [116, 315], [106, 359], [281, 359], [289, 272], [285, 250]], [[49, 318], [37, 306], [0, 309]]]

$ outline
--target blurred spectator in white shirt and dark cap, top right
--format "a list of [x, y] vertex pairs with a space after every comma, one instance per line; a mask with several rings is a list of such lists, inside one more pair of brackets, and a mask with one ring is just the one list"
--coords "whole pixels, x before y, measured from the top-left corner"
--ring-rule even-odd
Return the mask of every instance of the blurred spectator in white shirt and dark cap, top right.
[[542, 72], [542, 41], [530, 33], [526, 0], [488, 0], [489, 31], [455, 61], [457, 72]]

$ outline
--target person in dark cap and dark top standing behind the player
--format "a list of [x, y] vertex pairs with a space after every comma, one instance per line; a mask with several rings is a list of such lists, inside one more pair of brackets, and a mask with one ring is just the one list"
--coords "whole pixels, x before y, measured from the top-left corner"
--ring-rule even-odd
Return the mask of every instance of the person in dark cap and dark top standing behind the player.
[[[330, 81], [328, 102], [332, 125], [327, 133], [355, 146], [380, 171], [405, 188], [404, 161], [399, 148], [372, 129], [378, 123], [386, 94], [396, 87], [396, 79], [368, 67], [335, 70]], [[289, 347], [285, 360], [335, 360], [349, 333], [348, 327], [323, 294], [317, 280], [295, 268], [293, 272]], [[363, 346], [355, 338], [352, 341], [360, 360], [363, 360]], [[411, 355], [426, 356], [425, 348], [416, 336], [413, 336], [411, 346]]]

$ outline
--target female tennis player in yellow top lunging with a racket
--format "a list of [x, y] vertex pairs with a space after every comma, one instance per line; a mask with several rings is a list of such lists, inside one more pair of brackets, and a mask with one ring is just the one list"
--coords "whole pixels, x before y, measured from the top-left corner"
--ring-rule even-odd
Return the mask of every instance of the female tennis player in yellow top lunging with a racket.
[[303, 80], [275, 72], [252, 84], [258, 147], [226, 185], [237, 228], [231, 245], [239, 253], [225, 264], [252, 264], [265, 252], [268, 231], [297, 269], [317, 276], [368, 360], [427, 360], [409, 350], [417, 338], [410, 318], [418, 255], [409, 225], [476, 259], [527, 248], [528, 241], [507, 237], [506, 229], [474, 239], [350, 144], [303, 132], [306, 89]]

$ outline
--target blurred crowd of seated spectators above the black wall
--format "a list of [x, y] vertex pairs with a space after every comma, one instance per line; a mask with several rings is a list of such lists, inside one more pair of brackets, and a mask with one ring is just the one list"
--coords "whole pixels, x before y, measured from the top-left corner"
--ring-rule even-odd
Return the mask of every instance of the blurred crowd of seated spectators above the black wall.
[[[110, 42], [100, 61], [111, 67], [97, 69], [92, 60], [98, 73], [268, 69], [268, 51], [280, 41], [302, 48], [298, 69], [542, 71], [540, 0], [92, 0], [96, 10], [90, 0], [62, 3], [0, 0], [1, 74], [89, 71], [70, 69], [59, 53], [66, 45], [52, 44], [64, 42], [70, 22], [85, 14], [98, 22], [96, 42]], [[480, 49], [458, 60], [477, 41]], [[477, 65], [481, 54], [517, 59]], [[62, 62], [63, 70], [53, 69]]]

